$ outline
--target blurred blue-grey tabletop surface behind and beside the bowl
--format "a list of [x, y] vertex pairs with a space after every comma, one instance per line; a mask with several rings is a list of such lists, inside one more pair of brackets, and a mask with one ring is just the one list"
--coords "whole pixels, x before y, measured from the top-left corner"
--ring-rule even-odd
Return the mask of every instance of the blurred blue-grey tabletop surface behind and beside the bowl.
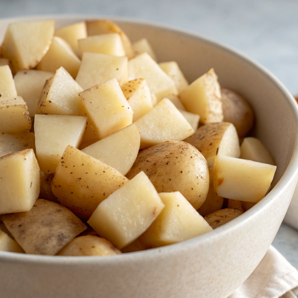
[[[92, 13], [169, 24], [233, 46], [298, 94], [296, 0], [0, 0], [0, 18]], [[298, 231], [282, 224], [273, 245], [298, 269]]]

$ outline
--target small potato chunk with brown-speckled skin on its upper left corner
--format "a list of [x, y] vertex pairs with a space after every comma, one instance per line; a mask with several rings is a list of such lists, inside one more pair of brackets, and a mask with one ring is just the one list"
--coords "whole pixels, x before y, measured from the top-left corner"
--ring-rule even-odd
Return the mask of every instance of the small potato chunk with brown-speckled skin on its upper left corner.
[[150, 89], [146, 80], [136, 79], [121, 86], [122, 92], [134, 111], [132, 122], [147, 114], [153, 109]]

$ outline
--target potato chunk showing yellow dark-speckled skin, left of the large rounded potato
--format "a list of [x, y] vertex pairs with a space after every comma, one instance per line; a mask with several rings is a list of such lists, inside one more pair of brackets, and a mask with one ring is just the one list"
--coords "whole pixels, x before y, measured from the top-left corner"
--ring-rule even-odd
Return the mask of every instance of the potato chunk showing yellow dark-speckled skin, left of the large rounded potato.
[[101, 201], [126, 182], [117, 170], [67, 146], [52, 180], [52, 191], [63, 206], [89, 218]]

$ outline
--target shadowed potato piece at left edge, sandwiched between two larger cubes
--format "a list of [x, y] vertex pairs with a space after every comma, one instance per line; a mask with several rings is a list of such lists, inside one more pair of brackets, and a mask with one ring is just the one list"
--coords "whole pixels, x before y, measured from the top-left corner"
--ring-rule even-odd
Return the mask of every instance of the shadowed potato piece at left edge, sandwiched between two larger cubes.
[[34, 133], [0, 134], [0, 157], [25, 149], [35, 151]]

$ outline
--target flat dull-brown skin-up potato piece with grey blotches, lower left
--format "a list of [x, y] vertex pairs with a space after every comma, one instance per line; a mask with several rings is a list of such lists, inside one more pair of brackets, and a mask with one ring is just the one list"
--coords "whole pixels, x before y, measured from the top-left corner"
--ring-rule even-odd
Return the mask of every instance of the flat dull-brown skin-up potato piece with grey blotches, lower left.
[[55, 255], [87, 228], [67, 208], [42, 199], [30, 211], [2, 215], [2, 220], [27, 254]]

